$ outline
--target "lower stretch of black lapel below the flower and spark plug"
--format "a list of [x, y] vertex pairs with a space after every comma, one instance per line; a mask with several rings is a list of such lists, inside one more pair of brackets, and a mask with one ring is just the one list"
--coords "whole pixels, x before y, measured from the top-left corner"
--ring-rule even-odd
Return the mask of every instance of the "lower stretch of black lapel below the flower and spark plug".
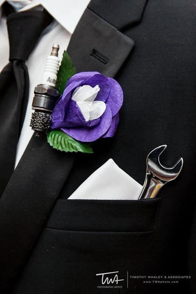
[[73, 155], [51, 148], [45, 135], [29, 142], [0, 199], [1, 293], [27, 261], [72, 164]]

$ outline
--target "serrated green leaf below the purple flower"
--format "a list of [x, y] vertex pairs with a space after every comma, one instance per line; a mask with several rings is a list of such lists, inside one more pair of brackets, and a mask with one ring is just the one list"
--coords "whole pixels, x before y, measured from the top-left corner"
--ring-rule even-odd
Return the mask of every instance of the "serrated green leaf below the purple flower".
[[62, 130], [52, 130], [47, 133], [48, 143], [55, 149], [66, 152], [93, 153], [89, 143], [79, 142]]

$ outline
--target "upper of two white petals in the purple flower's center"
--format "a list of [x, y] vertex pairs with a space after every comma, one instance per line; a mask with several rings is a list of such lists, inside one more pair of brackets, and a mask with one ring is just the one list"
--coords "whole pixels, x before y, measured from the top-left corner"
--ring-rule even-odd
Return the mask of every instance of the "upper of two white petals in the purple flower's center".
[[96, 85], [93, 88], [89, 85], [80, 86], [75, 89], [71, 99], [76, 102], [78, 102], [78, 101], [94, 101], [99, 90], [100, 90], [99, 85]]

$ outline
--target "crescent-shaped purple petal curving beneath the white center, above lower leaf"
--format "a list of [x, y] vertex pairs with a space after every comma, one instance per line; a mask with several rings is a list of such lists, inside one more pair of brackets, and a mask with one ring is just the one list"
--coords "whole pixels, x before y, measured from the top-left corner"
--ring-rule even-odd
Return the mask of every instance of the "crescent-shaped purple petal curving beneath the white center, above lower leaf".
[[101, 116], [100, 123], [92, 128], [62, 128], [62, 131], [72, 138], [82, 142], [92, 142], [99, 139], [107, 132], [111, 125], [112, 114], [110, 107], [106, 106], [104, 114]]

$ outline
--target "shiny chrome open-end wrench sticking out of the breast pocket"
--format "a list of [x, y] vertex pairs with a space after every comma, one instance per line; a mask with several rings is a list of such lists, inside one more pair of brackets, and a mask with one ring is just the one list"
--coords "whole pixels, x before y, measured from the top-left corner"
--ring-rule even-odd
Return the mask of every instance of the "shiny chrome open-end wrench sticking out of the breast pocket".
[[161, 145], [151, 151], [147, 156], [145, 182], [138, 199], [155, 198], [160, 188], [167, 182], [174, 180], [182, 170], [182, 157], [171, 168], [166, 168], [160, 164], [159, 156], [166, 147], [167, 145]]

